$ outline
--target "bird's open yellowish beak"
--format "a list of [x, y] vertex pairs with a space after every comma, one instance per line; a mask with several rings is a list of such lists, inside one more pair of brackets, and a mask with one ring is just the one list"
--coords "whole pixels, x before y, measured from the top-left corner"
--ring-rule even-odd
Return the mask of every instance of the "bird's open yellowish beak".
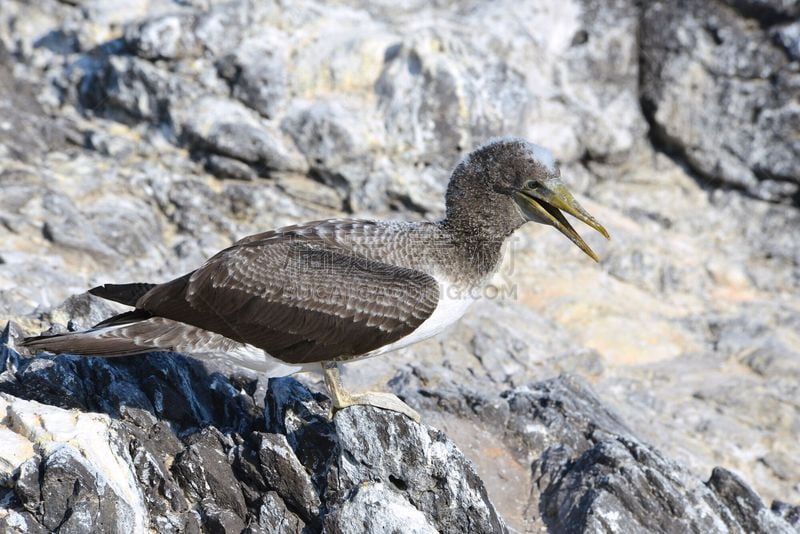
[[546, 182], [539, 183], [534, 189], [519, 189], [515, 191], [514, 200], [516, 200], [526, 219], [555, 226], [559, 232], [567, 236], [590, 258], [597, 262], [600, 261], [597, 254], [578, 235], [578, 232], [569, 224], [569, 221], [561, 211], [565, 211], [579, 221], [583, 221], [603, 234], [606, 239], [611, 238], [606, 229], [603, 228], [603, 225], [578, 204], [578, 201], [575, 200], [561, 180], [551, 178]]

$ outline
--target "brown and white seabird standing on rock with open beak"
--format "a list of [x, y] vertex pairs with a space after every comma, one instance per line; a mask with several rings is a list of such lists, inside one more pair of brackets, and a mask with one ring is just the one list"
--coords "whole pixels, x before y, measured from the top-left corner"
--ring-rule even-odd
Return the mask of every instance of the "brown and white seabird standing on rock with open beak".
[[332, 410], [366, 404], [419, 421], [393, 394], [349, 391], [340, 365], [458, 321], [498, 269], [508, 238], [528, 222], [555, 227], [599, 261], [564, 213], [609, 238], [564, 185], [548, 149], [491, 139], [455, 166], [441, 220], [327, 219], [251, 235], [174, 280], [92, 288], [133, 309], [21, 345], [102, 357], [174, 351], [268, 377], [321, 370]]

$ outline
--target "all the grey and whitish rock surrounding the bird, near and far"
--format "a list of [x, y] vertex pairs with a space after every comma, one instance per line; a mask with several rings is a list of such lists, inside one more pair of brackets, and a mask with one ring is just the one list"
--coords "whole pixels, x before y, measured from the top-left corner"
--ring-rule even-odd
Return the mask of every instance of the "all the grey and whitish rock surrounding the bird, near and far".
[[348, 366], [447, 437], [327, 423], [293, 380], [7, 348], [0, 522], [797, 529], [796, 2], [0, 0], [0, 322], [88, 327], [114, 309], [87, 288], [284, 224], [438, 218], [497, 135], [551, 148], [612, 240], [585, 232], [597, 265], [529, 225], [457, 327]]

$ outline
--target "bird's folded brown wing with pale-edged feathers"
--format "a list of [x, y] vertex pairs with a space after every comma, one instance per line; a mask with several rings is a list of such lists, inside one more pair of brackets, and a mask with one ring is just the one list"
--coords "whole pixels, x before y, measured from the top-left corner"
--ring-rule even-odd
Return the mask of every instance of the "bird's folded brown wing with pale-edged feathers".
[[426, 273], [348, 254], [313, 234], [269, 232], [156, 286], [137, 308], [309, 363], [397, 341], [438, 300]]

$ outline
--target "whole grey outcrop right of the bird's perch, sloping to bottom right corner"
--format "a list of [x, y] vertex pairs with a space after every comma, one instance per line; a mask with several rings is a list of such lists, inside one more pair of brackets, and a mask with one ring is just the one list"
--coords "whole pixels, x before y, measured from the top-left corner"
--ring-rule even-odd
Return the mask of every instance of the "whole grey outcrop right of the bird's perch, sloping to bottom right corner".
[[[501, 399], [457, 386], [443, 395], [441, 389], [415, 386], [413, 380], [402, 391], [420, 408], [436, 406], [488, 424], [503, 436], [505, 447], [533, 458], [525, 528], [792, 531], [733, 473], [716, 468], [703, 483], [640, 441], [574, 377], [518, 387]], [[461, 402], [454, 402], [459, 397]]]

